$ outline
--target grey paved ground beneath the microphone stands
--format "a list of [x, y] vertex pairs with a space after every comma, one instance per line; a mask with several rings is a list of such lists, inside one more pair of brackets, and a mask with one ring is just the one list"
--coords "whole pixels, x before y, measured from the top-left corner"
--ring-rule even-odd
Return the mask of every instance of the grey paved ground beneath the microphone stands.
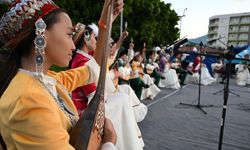
[[[222, 84], [201, 86], [201, 104], [207, 115], [195, 107], [198, 85], [188, 84], [180, 90], [162, 89], [154, 100], [144, 100], [148, 114], [139, 123], [145, 150], [216, 150], [218, 149], [223, 104]], [[250, 88], [239, 87], [234, 81], [230, 89], [240, 95], [229, 94], [223, 150], [250, 150]]]

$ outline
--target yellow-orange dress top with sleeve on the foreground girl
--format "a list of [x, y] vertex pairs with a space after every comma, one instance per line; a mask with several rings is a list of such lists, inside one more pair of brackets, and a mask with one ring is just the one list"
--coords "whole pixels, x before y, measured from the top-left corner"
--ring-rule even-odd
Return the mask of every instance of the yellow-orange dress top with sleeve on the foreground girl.
[[[48, 72], [55, 80], [57, 94], [78, 120], [68, 94], [89, 82], [88, 67], [65, 72]], [[0, 132], [8, 150], [71, 150], [69, 117], [34, 76], [19, 71], [0, 98]]]

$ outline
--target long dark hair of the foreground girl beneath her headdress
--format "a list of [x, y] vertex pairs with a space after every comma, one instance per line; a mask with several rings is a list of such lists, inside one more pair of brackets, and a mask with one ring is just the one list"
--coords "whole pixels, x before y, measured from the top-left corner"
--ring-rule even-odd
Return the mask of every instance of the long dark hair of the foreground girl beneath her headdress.
[[[47, 29], [50, 29], [59, 21], [58, 15], [60, 13], [65, 13], [65, 10], [61, 8], [55, 9], [43, 17]], [[18, 68], [21, 67], [21, 58], [31, 54], [35, 37], [34, 23], [30, 23], [30, 26], [23, 29], [22, 33], [18, 34], [14, 40], [8, 43], [7, 47], [11, 49], [8, 56], [3, 56], [0, 53], [0, 58], [2, 59], [0, 61], [0, 97], [3, 95], [12, 78], [16, 75]]]

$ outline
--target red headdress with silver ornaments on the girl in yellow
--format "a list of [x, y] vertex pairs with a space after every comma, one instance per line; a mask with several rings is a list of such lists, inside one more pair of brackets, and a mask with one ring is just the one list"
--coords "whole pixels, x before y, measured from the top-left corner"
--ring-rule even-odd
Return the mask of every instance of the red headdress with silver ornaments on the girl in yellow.
[[0, 20], [0, 42], [14, 38], [31, 20], [59, 8], [52, 0], [16, 0]]

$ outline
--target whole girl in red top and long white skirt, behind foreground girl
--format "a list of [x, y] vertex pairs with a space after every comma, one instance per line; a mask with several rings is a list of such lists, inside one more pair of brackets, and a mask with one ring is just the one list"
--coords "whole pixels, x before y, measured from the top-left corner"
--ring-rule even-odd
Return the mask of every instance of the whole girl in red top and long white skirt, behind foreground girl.
[[[72, 60], [72, 68], [85, 66], [89, 61], [93, 59], [93, 56], [89, 55], [88, 53], [92, 50], [95, 50], [96, 48], [96, 37], [93, 29], [91, 29], [89, 26], [85, 27], [81, 23], [78, 23], [76, 25], [76, 29], [77, 30], [75, 35], [73, 36], [73, 39], [77, 50], [76, 55]], [[113, 41], [109, 40], [109, 42], [112, 43]], [[111, 43], [109, 44], [110, 46], [112, 46]], [[107, 65], [108, 68], [110, 64]], [[96, 84], [97, 82], [93, 82], [87, 86], [82, 86], [73, 91], [72, 95], [76, 96], [73, 98], [74, 103], [84, 103], [84, 105], [76, 105], [76, 108], [80, 115], [82, 114], [82, 112], [84, 112], [86, 107], [88, 107], [86, 102], [90, 102], [92, 100], [92, 95], [94, 95], [94, 93], [96, 92]], [[85, 97], [83, 97], [83, 95], [88, 98], [87, 101], [86, 99], [84, 99]], [[117, 143], [115, 147], [117, 149], [142, 149], [144, 146], [144, 142], [142, 140], [141, 132], [136, 122], [134, 110], [130, 104], [131, 102], [129, 95], [117, 91], [110, 77], [109, 71], [106, 74], [105, 95], [105, 114], [106, 117], [108, 117], [112, 121], [117, 134]], [[146, 115], [146, 113], [144, 114]], [[143, 118], [145, 117], [145, 115], [143, 116]]]

